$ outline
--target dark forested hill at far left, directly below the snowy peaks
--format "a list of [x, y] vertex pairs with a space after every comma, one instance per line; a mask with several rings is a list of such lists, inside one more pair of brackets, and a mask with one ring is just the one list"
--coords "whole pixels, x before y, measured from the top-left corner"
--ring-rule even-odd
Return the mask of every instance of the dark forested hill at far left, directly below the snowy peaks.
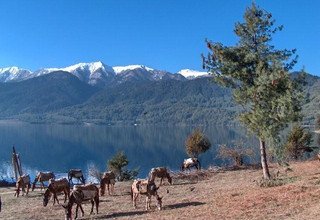
[[55, 111], [82, 103], [95, 92], [97, 88], [62, 71], [21, 82], [0, 83], [0, 116]]

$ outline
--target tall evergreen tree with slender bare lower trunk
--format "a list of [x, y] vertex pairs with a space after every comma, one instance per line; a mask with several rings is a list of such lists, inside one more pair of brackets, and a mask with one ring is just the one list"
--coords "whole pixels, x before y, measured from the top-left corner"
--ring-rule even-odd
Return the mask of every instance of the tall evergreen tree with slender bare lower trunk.
[[277, 137], [291, 121], [300, 118], [301, 86], [288, 71], [297, 62], [295, 50], [277, 50], [272, 36], [282, 30], [274, 27], [272, 15], [254, 3], [247, 8], [244, 22], [236, 23], [239, 37], [235, 46], [207, 40], [208, 56], [203, 67], [223, 86], [233, 89], [234, 100], [243, 106], [239, 120], [260, 141], [263, 176], [270, 178], [266, 140]]

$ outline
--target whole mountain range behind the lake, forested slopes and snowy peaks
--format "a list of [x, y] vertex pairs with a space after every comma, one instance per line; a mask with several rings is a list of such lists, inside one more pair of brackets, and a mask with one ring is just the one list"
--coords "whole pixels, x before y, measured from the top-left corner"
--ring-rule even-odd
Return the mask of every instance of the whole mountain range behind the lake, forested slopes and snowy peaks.
[[[305, 122], [320, 101], [319, 77], [308, 75]], [[0, 69], [0, 119], [32, 123], [233, 124], [241, 108], [205, 72], [172, 74], [144, 65], [102, 62], [29, 71]]]

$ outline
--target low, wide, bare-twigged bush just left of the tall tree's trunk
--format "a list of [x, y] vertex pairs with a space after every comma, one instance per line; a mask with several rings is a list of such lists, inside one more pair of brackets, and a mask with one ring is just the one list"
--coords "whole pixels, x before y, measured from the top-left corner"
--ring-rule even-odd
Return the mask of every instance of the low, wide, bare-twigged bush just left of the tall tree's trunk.
[[218, 157], [233, 161], [234, 166], [242, 166], [246, 157], [252, 157], [254, 151], [251, 148], [245, 148], [241, 144], [228, 147], [227, 145], [220, 145]]

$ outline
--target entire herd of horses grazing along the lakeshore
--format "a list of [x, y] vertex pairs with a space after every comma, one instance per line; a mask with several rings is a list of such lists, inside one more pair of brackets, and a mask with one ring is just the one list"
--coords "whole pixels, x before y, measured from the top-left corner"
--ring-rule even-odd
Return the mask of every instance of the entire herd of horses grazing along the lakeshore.
[[[185, 159], [181, 165], [181, 170], [190, 170], [190, 168], [200, 169], [200, 162], [197, 158]], [[70, 186], [73, 184], [73, 179], [76, 178], [78, 182], [82, 185], [73, 185], [72, 191]], [[159, 186], [156, 185], [156, 178], [160, 178]], [[162, 209], [162, 197], [158, 195], [158, 189], [162, 185], [163, 179], [172, 184], [172, 178], [165, 167], [152, 168], [149, 172], [147, 179], [136, 179], [131, 185], [131, 200], [133, 206], [137, 208], [136, 200], [139, 195], [146, 196], [146, 206], [145, 209], [151, 208], [151, 197], [154, 196], [157, 200], [157, 208]], [[82, 208], [82, 203], [84, 201], [91, 202], [91, 212], [93, 213], [94, 206], [96, 207], [96, 213], [99, 211], [99, 196], [105, 195], [105, 190], [107, 188], [108, 194], [114, 193], [114, 185], [116, 183], [116, 175], [112, 171], [104, 172], [101, 175], [101, 181], [99, 187], [93, 183], [85, 184], [85, 178], [80, 169], [72, 169], [68, 172], [68, 179], [61, 178], [55, 179], [53, 172], [39, 172], [32, 183], [32, 191], [35, 189], [36, 183], [39, 182], [41, 190], [44, 189], [44, 182], [48, 182], [48, 187], [43, 194], [43, 206], [47, 206], [50, 198], [53, 197], [53, 205], [55, 202], [59, 204], [57, 195], [59, 193], [64, 193], [64, 204], [62, 207], [65, 209], [65, 219], [72, 219], [72, 207], [76, 205], [75, 219], [78, 217], [78, 210], [84, 215]], [[16, 183], [15, 196], [19, 197], [20, 191], [22, 190], [22, 195], [29, 193], [31, 188], [31, 181], [29, 175], [20, 176]], [[26, 190], [25, 190], [26, 189]], [[68, 200], [68, 202], [67, 202]], [[1, 200], [0, 200], [1, 201]], [[67, 203], [66, 203], [67, 202]], [[1, 207], [1, 206], [0, 206]]]

